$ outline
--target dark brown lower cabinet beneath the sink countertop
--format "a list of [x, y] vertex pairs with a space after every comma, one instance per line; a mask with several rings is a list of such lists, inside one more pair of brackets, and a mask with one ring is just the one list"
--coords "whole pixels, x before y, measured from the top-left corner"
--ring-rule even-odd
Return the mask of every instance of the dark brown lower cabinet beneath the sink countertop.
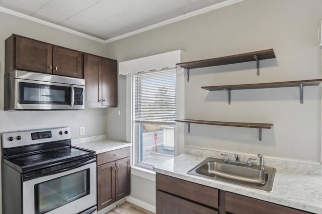
[[156, 173], [156, 214], [310, 213]]

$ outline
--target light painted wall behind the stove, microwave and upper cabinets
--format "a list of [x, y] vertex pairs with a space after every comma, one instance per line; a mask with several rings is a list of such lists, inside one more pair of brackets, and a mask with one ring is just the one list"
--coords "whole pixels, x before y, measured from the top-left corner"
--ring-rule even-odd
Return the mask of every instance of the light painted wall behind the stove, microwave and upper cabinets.
[[[70, 126], [72, 138], [106, 134], [106, 109], [79, 111], [4, 111], [5, 40], [11, 34], [104, 56], [104, 44], [0, 12], [0, 133], [24, 129]], [[79, 126], [86, 134], [79, 135]], [[0, 199], [1, 201], [1, 199]], [[0, 203], [1, 207], [1, 203]], [[0, 213], [2, 208], [0, 208]]]

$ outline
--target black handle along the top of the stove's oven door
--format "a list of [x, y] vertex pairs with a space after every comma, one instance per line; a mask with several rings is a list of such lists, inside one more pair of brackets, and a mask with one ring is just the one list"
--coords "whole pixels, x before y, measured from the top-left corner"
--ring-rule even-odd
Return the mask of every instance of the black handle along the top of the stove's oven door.
[[57, 173], [68, 171], [68, 170], [71, 170], [74, 168], [78, 168], [78, 167], [81, 167], [81, 166], [84, 166], [86, 164], [93, 163], [93, 162], [96, 162], [95, 157], [94, 158], [90, 157], [90, 158], [86, 158], [86, 159], [82, 159], [82, 160], [76, 160], [71, 163], [65, 163], [65, 164], [63, 164], [63, 166], [61, 166], [61, 168], [56, 169], [56, 170], [50, 170], [48, 172], [43, 172], [43, 170], [37, 170], [34, 172], [23, 174], [22, 181], [27, 181], [27, 180], [32, 180], [32, 179], [35, 179], [38, 177], [44, 177], [44, 176], [48, 176], [48, 175], [52, 175], [52, 174], [57, 174]]

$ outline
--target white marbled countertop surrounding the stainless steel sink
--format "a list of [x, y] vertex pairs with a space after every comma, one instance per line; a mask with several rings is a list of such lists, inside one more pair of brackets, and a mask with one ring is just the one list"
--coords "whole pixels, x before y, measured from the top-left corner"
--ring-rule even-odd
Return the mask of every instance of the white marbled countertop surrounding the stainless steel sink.
[[204, 159], [205, 157], [181, 154], [154, 166], [153, 171], [236, 194], [322, 214], [322, 178], [319, 175], [276, 169], [273, 191], [264, 192], [186, 173]]

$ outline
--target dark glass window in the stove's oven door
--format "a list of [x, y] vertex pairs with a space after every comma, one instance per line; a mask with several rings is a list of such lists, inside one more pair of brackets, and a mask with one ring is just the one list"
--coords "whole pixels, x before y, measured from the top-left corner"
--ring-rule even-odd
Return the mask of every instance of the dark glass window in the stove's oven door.
[[90, 194], [90, 169], [35, 185], [35, 214], [42, 214]]

